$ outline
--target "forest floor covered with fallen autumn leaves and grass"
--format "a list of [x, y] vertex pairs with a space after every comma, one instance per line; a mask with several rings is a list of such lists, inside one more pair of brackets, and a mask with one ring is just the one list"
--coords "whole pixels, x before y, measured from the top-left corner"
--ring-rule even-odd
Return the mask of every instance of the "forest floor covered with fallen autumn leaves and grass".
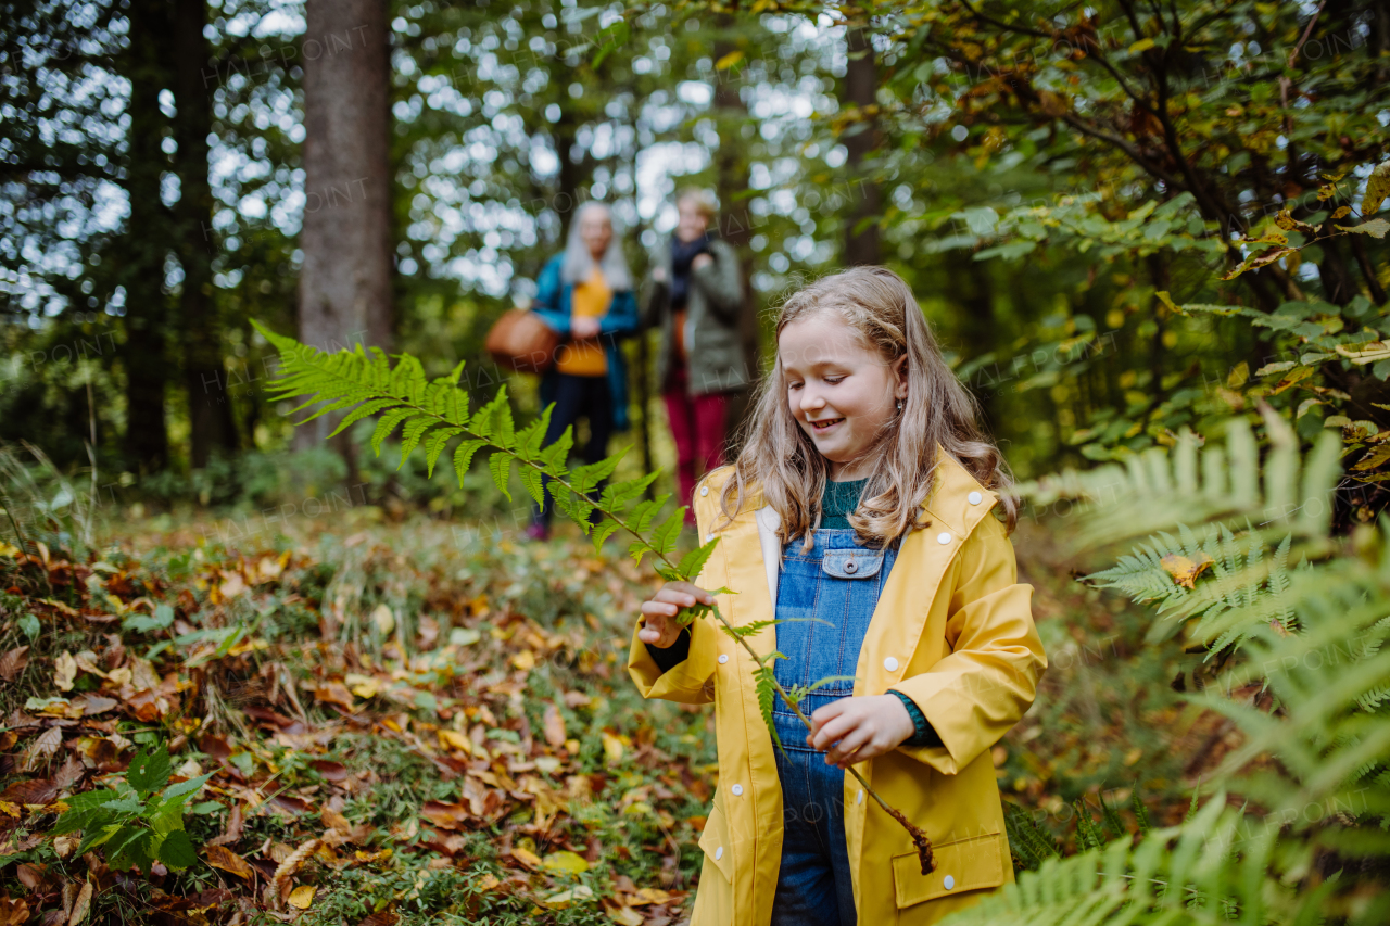
[[[713, 716], [632, 685], [657, 580], [624, 546], [371, 506], [254, 519], [117, 524], [90, 562], [0, 544], [0, 925], [685, 918]], [[1076, 581], [1049, 530], [1015, 544], [1051, 667], [992, 751], [1005, 799], [1065, 851], [1102, 794], [1180, 820], [1233, 745], [1175, 691], [1193, 658], [1145, 644], [1151, 619]], [[196, 863], [113, 870], [49, 831], [160, 742], [171, 780], [211, 774]]]

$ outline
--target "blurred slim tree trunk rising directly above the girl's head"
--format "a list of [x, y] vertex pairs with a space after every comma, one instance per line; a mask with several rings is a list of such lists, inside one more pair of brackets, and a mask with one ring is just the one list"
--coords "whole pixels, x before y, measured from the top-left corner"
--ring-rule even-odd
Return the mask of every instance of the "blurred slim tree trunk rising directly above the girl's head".
[[[845, 161], [849, 199], [849, 220], [845, 224], [845, 264], [883, 263], [878, 249], [878, 185], [869, 178], [865, 161], [878, 146], [874, 95], [878, 90], [878, 71], [873, 60], [873, 42], [867, 29], [849, 29], [847, 36], [849, 61], [845, 65], [845, 108], [859, 110], [860, 120], [845, 135]], [[863, 225], [863, 228], [860, 228]]]

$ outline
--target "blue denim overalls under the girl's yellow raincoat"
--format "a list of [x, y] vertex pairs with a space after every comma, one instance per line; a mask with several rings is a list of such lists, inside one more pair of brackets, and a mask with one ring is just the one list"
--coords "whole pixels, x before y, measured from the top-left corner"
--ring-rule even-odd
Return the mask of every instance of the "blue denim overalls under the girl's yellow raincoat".
[[[869, 549], [852, 530], [817, 530], [815, 546], [787, 545], [777, 580], [777, 649], [773, 663], [783, 688], [848, 676], [805, 697], [802, 712], [853, 694], [869, 622], [892, 569], [897, 549]], [[778, 697], [773, 727], [787, 751], [777, 755], [783, 787], [783, 855], [773, 900], [773, 926], [855, 926], [855, 897], [845, 847], [844, 776], [826, 755], [806, 745], [809, 731]]]

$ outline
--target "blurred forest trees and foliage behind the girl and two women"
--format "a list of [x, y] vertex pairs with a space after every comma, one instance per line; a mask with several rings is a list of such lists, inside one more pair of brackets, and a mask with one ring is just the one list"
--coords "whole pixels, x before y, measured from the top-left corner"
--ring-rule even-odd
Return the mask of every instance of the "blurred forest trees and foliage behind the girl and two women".
[[[1023, 476], [1170, 442], [1259, 392], [1305, 437], [1382, 423], [1372, 368], [1304, 380], [1293, 325], [1175, 303], [1294, 304], [1351, 332], [1384, 302], [1383, 238], [1336, 231], [1383, 157], [1387, 17], [6, 3], [0, 438], [65, 471], [89, 445], [108, 503], [260, 503], [291, 432], [250, 318], [431, 374], [467, 359], [485, 398], [503, 374], [482, 336], [575, 206], [612, 203], [641, 278], [687, 185], [717, 192], [759, 310], [848, 263], [912, 281]], [[1280, 210], [1309, 231], [1223, 281], [1252, 252], [1234, 239]], [[749, 342], [766, 356], [766, 331]], [[651, 364], [626, 349], [660, 463]], [[446, 492], [368, 478], [378, 498]]]

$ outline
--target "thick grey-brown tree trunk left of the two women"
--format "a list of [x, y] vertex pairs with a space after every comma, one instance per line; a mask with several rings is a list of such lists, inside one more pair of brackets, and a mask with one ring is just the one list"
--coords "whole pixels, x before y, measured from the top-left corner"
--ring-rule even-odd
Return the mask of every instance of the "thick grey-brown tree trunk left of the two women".
[[[299, 339], [321, 350], [391, 346], [391, 49], [385, 0], [306, 4], [304, 222]], [[321, 442], [341, 413], [296, 428]], [[338, 448], [353, 455], [346, 434]]]

